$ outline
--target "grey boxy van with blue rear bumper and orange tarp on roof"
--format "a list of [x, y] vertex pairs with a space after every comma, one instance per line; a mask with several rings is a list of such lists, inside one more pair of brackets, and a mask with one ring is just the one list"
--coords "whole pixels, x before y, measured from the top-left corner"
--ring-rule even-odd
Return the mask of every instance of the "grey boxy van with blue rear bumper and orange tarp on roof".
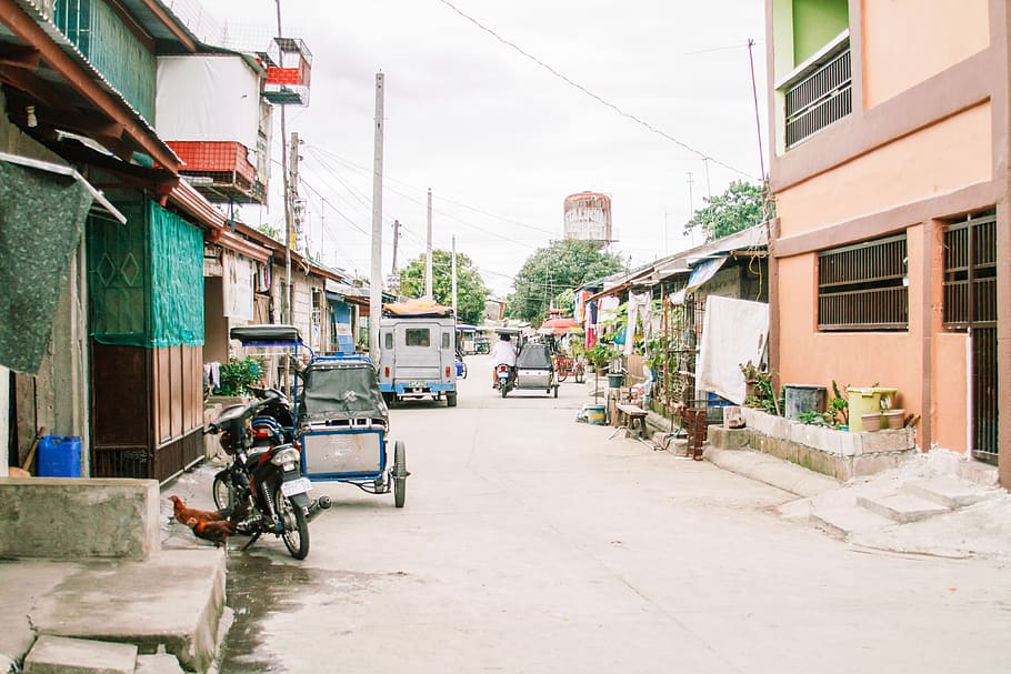
[[379, 323], [379, 390], [388, 404], [411, 398], [457, 406], [457, 320], [431, 301], [383, 304]]

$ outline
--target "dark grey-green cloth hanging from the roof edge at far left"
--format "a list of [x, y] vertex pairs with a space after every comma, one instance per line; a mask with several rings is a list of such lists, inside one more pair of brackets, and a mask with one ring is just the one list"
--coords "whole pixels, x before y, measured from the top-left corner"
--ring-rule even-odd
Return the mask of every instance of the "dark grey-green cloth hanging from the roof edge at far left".
[[0, 161], [0, 364], [39, 371], [91, 201], [73, 177]]

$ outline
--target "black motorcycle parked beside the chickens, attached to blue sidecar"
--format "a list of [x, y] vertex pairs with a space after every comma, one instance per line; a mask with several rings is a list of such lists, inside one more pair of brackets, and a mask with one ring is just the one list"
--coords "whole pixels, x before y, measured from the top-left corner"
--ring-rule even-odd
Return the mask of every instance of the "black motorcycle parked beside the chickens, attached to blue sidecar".
[[[251, 536], [242, 550], [268, 533], [281, 537], [292, 557], [304, 560], [309, 554], [309, 521], [330, 507], [330, 499], [309, 497], [312, 483], [301, 474], [297, 443], [272, 442], [282, 437], [283, 431], [271, 427], [263, 421], [270, 418], [261, 415], [277, 403], [277, 396], [270, 395], [227, 408], [204, 430], [219, 435], [221, 449], [232, 457], [231, 464], [214, 475], [212, 496], [219, 510], [230, 513], [236, 533]], [[261, 421], [254, 430], [256, 419]], [[262, 440], [267, 442], [258, 445]]]

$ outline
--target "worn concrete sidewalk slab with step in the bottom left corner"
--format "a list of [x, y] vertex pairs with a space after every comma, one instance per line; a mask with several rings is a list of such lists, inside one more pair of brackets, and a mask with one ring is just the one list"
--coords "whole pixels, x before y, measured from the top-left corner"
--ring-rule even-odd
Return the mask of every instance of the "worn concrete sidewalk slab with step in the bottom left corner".
[[162, 549], [148, 560], [0, 560], [0, 673], [98, 671], [79, 668], [89, 662], [127, 674], [214, 671], [229, 624], [224, 552], [170, 522], [167, 500], [210, 507], [198, 477], [161, 490]]

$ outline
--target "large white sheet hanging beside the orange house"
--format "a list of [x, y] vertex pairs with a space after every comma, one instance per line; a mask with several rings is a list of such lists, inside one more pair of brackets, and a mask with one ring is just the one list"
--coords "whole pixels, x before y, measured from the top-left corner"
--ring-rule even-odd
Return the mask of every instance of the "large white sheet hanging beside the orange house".
[[697, 388], [744, 404], [741, 363], [762, 362], [768, 338], [768, 304], [719, 295], [705, 298], [702, 343], [695, 363]]

